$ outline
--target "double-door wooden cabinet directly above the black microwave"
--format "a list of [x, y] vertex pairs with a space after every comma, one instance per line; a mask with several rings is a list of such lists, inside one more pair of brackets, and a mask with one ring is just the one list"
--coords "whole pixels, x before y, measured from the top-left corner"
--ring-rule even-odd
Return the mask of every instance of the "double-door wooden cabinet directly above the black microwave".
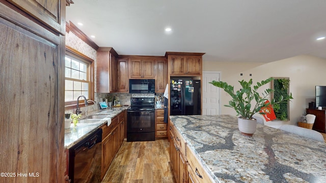
[[154, 59], [130, 58], [129, 77], [133, 79], [148, 78], [154, 79]]

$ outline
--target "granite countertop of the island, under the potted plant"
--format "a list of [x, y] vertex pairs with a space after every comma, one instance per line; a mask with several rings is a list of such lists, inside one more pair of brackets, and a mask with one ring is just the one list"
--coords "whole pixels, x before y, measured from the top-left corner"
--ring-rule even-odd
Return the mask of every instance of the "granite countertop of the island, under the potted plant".
[[326, 143], [260, 124], [243, 136], [231, 115], [170, 119], [216, 182], [326, 181]]

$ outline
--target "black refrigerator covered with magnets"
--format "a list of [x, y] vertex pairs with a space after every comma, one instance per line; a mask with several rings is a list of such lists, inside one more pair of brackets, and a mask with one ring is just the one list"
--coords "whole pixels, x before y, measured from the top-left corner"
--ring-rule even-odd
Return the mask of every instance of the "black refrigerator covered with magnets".
[[170, 84], [170, 115], [200, 115], [200, 80], [171, 78]]

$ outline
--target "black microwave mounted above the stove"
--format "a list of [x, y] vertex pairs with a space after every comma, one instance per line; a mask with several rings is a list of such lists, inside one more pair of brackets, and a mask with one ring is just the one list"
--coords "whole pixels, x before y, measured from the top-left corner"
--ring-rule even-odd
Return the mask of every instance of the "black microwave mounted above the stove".
[[155, 79], [129, 79], [129, 94], [154, 94]]

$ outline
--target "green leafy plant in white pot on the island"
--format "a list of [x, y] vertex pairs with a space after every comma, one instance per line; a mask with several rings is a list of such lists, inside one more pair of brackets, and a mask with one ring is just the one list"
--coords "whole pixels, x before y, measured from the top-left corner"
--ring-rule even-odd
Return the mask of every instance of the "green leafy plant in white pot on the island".
[[[292, 94], [286, 96], [280, 96], [279, 99], [272, 99], [270, 102], [266, 102], [268, 97], [271, 93], [273, 93], [273, 89], [267, 88], [262, 93], [262, 96], [259, 95], [257, 92], [258, 88], [262, 85], [269, 83], [270, 81], [274, 80], [274, 78], [268, 78], [261, 82], [257, 82], [257, 85], [252, 87], [253, 81], [252, 79], [247, 81], [239, 81], [240, 85], [242, 86], [241, 89], [237, 90], [234, 93], [233, 86], [229, 85], [223, 81], [212, 81], [209, 82], [214, 86], [223, 88], [226, 93], [228, 93], [232, 100], [229, 101], [229, 105], [224, 105], [226, 107], [233, 108], [237, 116], [240, 115], [238, 118], [238, 128], [239, 131], [243, 135], [252, 136], [256, 131], [257, 121], [253, 118], [255, 113], [265, 114], [264, 112], [260, 112], [260, 110], [264, 107], [270, 107], [274, 104], [287, 102], [292, 98]], [[252, 103], [255, 100], [256, 103]]]

